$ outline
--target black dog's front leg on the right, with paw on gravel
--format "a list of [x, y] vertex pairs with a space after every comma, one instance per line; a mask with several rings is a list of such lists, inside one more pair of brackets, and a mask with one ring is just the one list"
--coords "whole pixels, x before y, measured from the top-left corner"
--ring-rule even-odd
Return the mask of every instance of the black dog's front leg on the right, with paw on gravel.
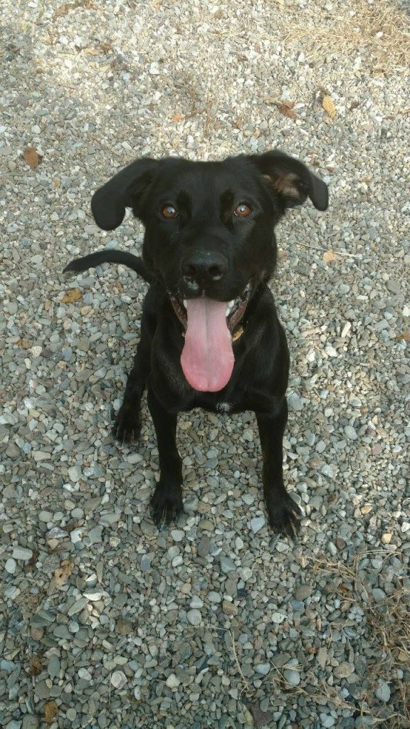
[[263, 496], [269, 523], [290, 537], [299, 529], [301, 510], [283, 483], [283, 433], [287, 422], [286, 397], [269, 413], [256, 413], [263, 458]]

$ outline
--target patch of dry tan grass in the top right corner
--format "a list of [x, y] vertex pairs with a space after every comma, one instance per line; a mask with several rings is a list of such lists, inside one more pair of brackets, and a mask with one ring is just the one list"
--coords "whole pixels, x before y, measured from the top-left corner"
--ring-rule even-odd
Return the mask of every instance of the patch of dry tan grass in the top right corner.
[[336, 14], [288, 18], [285, 44], [297, 45], [309, 61], [330, 53], [361, 55], [363, 65], [380, 73], [410, 71], [410, 15], [395, 0], [349, 0]]

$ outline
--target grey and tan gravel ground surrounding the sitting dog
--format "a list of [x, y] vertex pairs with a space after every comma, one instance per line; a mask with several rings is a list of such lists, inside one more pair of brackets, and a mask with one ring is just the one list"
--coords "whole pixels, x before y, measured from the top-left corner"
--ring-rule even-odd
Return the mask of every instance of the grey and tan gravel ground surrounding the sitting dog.
[[[410, 726], [409, 38], [403, 4], [372, 7], [3, 1], [7, 729]], [[61, 271], [138, 249], [89, 208], [134, 157], [276, 146], [331, 194], [281, 224], [272, 284], [301, 536], [266, 526], [252, 413], [199, 411], [179, 420], [187, 515], [158, 533], [146, 406], [138, 450], [110, 435], [145, 285]]]

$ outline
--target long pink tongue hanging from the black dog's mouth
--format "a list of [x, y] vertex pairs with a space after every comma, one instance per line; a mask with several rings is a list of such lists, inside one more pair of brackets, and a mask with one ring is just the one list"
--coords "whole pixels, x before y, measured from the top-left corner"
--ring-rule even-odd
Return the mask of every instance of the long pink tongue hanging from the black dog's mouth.
[[226, 302], [201, 297], [187, 300], [187, 331], [181, 365], [195, 390], [217, 392], [233, 370], [231, 334], [226, 324]]

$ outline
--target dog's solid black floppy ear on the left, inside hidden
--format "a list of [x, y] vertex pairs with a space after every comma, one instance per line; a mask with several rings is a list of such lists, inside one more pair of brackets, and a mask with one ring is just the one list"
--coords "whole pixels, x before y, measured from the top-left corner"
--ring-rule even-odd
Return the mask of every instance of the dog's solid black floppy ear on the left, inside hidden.
[[118, 172], [99, 187], [91, 199], [91, 210], [98, 227], [114, 230], [121, 225], [125, 208], [138, 213], [138, 198], [150, 184], [160, 160], [143, 157]]

